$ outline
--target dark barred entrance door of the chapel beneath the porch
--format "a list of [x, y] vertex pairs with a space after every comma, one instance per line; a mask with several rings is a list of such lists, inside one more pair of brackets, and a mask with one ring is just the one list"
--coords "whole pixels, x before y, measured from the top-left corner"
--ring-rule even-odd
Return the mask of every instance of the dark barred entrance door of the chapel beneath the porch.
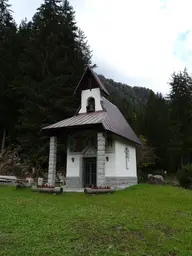
[[96, 186], [97, 184], [97, 158], [83, 158], [84, 187]]

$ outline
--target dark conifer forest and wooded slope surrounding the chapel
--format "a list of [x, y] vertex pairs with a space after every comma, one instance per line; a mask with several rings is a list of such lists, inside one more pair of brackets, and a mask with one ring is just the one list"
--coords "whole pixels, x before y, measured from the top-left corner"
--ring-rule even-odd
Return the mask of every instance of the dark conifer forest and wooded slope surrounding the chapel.
[[[40, 130], [76, 112], [80, 98], [73, 91], [87, 65], [97, 63], [68, 0], [45, 0], [31, 20], [20, 24], [8, 0], [0, 0], [0, 163], [12, 155], [17, 167], [47, 168], [49, 138]], [[187, 69], [170, 74], [167, 97], [99, 75], [109, 100], [141, 138], [139, 171], [176, 173], [191, 163], [192, 76]], [[58, 166], [65, 163], [65, 144], [60, 144]]]

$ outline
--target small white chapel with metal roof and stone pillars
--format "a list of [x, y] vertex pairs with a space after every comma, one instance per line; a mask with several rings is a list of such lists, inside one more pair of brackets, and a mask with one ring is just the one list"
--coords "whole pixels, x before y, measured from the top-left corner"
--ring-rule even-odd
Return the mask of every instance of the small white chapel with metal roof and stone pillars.
[[49, 125], [42, 133], [50, 136], [48, 183], [56, 176], [57, 136], [67, 134], [66, 187], [124, 188], [137, 184], [136, 145], [141, 144], [94, 71], [87, 67], [75, 93], [81, 106], [68, 119]]

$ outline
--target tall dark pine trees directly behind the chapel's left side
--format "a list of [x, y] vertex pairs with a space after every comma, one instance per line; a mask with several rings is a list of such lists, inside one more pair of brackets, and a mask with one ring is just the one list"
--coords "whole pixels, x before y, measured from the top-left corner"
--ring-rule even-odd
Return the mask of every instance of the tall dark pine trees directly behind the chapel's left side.
[[20, 27], [20, 34], [26, 27], [30, 33], [20, 56], [23, 101], [18, 139], [25, 157], [37, 164], [47, 160], [41, 127], [73, 115], [79, 107], [73, 92], [91, 52], [67, 0], [46, 0], [32, 22]]

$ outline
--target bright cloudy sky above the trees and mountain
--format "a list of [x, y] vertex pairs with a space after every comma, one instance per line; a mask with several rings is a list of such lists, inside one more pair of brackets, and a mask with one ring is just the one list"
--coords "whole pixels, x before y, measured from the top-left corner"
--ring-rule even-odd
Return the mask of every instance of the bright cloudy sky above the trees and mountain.
[[[43, 0], [10, 0], [19, 23]], [[171, 74], [192, 72], [191, 0], [70, 0], [95, 70], [131, 86], [169, 93]]]

